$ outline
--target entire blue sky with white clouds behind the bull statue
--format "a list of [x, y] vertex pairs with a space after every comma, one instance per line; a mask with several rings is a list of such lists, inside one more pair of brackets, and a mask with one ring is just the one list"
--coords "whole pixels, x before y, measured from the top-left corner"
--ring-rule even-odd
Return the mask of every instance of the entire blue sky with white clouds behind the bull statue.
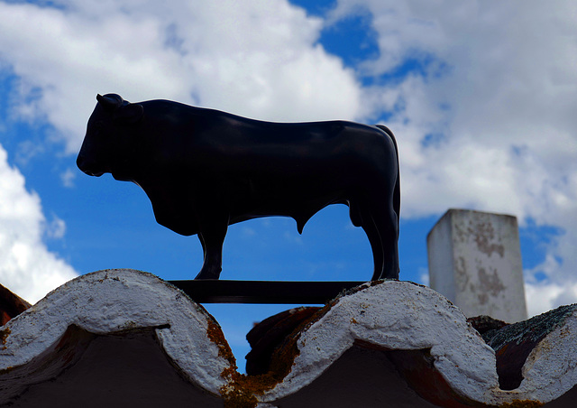
[[[517, 216], [531, 314], [577, 299], [577, 23], [571, 1], [1, 1], [0, 283], [30, 301], [78, 274], [188, 279], [196, 236], [136, 185], [79, 172], [96, 94], [262, 120], [388, 125], [401, 160], [401, 279], [426, 283], [449, 208]], [[536, 30], [536, 27], [539, 30]], [[223, 279], [363, 280], [344, 206], [229, 229]], [[286, 305], [208, 305], [240, 366], [253, 321]]]

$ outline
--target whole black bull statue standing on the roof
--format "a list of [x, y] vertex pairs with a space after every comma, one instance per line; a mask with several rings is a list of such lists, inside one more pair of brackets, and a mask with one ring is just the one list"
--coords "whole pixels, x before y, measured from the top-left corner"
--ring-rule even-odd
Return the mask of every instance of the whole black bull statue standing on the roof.
[[382, 125], [271, 123], [169, 100], [98, 95], [78, 168], [133, 181], [157, 222], [197, 234], [196, 279], [218, 279], [229, 225], [285, 216], [302, 233], [329, 204], [346, 204], [369, 238], [372, 280], [398, 279], [398, 150]]

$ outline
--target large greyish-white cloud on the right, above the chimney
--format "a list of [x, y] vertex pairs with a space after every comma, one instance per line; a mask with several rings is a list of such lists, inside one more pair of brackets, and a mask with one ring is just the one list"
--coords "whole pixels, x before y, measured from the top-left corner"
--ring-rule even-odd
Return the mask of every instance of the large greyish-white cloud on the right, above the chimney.
[[371, 14], [380, 56], [363, 63], [368, 75], [417, 62], [373, 98], [398, 134], [404, 216], [464, 207], [564, 229], [526, 271], [532, 312], [577, 301], [575, 11], [570, 1], [339, 0], [331, 14]]

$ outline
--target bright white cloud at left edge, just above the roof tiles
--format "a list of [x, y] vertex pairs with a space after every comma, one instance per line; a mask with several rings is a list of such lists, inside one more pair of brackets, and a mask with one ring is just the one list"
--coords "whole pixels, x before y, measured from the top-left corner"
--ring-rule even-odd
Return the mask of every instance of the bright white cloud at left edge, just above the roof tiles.
[[[59, 218], [50, 225], [51, 236], [63, 234]], [[0, 283], [32, 303], [77, 276], [42, 243], [46, 226], [38, 195], [26, 190], [23, 175], [8, 165], [0, 146]]]

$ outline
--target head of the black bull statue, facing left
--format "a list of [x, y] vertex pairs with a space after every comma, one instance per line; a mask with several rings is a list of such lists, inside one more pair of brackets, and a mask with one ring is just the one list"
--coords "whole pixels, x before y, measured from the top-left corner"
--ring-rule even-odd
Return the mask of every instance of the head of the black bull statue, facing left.
[[135, 142], [131, 136], [134, 125], [142, 120], [144, 108], [116, 94], [97, 95], [96, 100], [78, 153], [78, 168], [91, 176], [111, 172], [118, 180], [130, 180], [125, 173]]

